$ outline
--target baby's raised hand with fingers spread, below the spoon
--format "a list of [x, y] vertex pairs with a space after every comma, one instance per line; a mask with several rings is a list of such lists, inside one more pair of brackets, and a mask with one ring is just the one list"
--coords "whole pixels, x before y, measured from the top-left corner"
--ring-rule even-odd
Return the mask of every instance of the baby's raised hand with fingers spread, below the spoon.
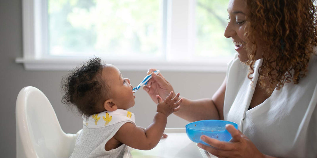
[[[164, 101], [162, 98], [157, 95], [156, 98], [158, 99], [158, 106], [156, 112], [161, 112], [168, 117], [171, 113], [177, 112], [180, 109], [180, 104], [182, 103], [183, 99], [178, 100], [179, 93], [172, 99], [173, 91], [166, 97]], [[178, 101], [177, 101], [178, 100]]]

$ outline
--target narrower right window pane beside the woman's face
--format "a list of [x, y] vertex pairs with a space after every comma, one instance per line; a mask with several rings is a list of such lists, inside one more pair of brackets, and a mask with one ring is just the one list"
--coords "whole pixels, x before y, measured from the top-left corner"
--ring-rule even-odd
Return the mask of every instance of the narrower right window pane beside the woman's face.
[[231, 57], [232, 40], [223, 36], [227, 26], [229, 0], [196, 0], [195, 56]]

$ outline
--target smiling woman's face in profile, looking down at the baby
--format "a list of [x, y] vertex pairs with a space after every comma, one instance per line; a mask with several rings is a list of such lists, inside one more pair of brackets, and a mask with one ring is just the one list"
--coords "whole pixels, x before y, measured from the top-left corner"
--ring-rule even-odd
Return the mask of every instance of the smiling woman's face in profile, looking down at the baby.
[[229, 22], [223, 33], [226, 38], [231, 38], [234, 48], [238, 52], [240, 61], [248, 59], [247, 51], [244, 48], [244, 27], [246, 25], [246, 15], [249, 13], [245, 0], [230, 0], [228, 5]]

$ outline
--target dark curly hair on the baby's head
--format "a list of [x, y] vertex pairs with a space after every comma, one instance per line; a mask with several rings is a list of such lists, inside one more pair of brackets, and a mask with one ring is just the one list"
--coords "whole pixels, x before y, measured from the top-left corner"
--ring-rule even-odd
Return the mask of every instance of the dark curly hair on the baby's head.
[[62, 103], [71, 109], [76, 107], [85, 117], [102, 112], [102, 100], [106, 99], [109, 90], [101, 79], [103, 66], [100, 58], [91, 58], [69, 71], [69, 75], [61, 82], [61, 88], [65, 92]]

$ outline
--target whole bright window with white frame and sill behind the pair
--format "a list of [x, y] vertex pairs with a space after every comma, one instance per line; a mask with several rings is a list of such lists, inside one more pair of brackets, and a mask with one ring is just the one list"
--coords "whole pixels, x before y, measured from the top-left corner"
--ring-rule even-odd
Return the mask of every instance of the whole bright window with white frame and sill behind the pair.
[[97, 56], [120, 70], [225, 71], [229, 0], [23, 0], [27, 70]]

